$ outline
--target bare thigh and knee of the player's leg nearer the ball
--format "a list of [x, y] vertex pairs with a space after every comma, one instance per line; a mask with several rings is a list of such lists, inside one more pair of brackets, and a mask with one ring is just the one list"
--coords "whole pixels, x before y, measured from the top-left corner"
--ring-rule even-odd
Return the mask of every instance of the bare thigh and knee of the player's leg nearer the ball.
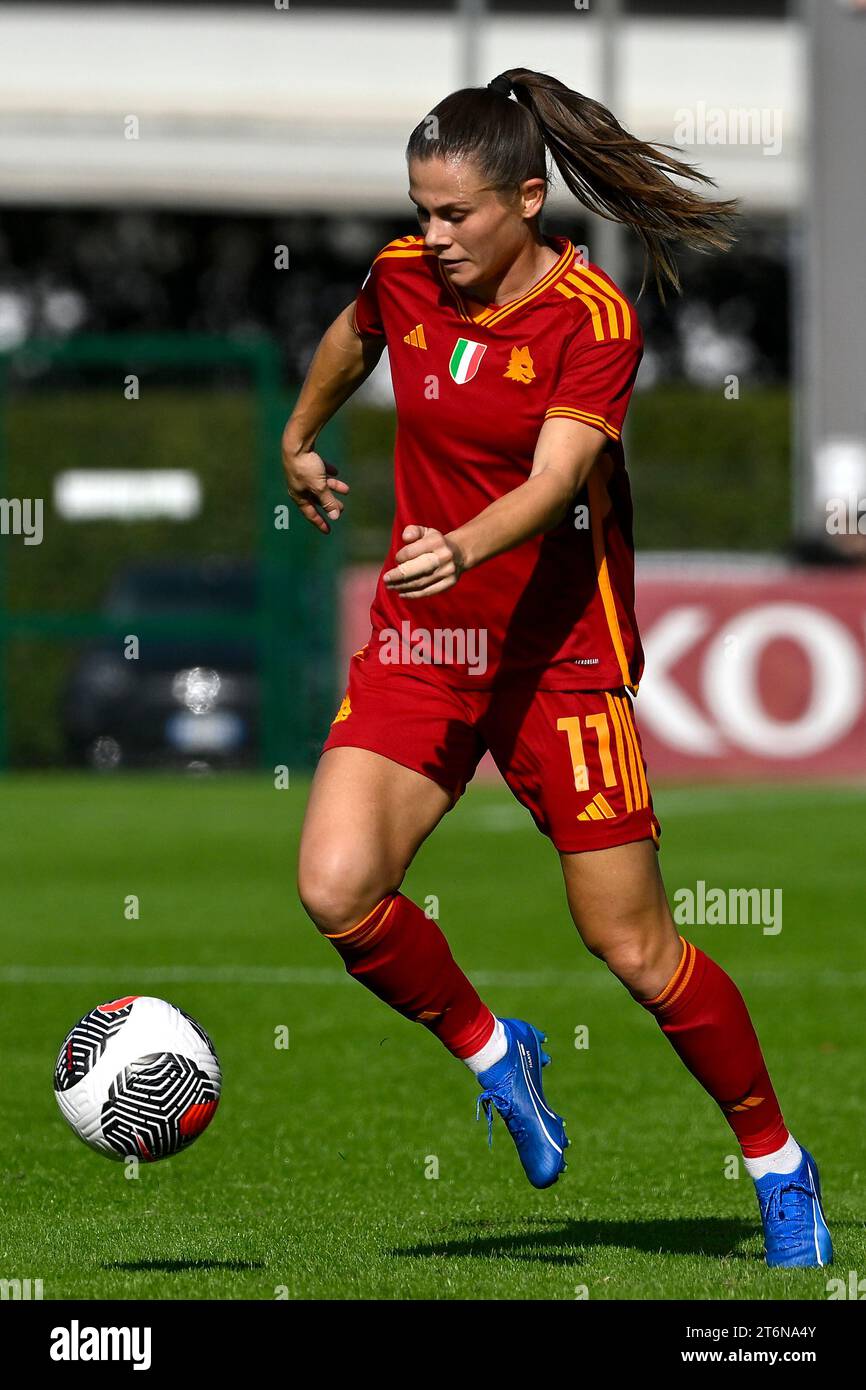
[[366, 748], [322, 752], [297, 859], [297, 891], [322, 930], [350, 927], [395, 892], [452, 796]]

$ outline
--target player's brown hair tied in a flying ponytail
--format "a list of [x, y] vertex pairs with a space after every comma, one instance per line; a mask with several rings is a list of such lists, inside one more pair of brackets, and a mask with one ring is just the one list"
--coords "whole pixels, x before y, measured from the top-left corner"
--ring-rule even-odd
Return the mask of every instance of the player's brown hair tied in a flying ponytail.
[[673, 243], [706, 252], [727, 250], [735, 240], [737, 199], [716, 202], [676, 183], [671, 174], [716, 186], [692, 164], [663, 153], [674, 146], [637, 139], [601, 101], [546, 72], [510, 68], [503, 76], [516, 100], [491, 88], [452, 92], [414, 128], [406, 158], [473, 157], [489, 188], [512, 192], [528, 178], [550, 188], [549, 153], [584, 207], [637, 232], [645, 252], [639, 293], [652, 263], [662, 303], [662, 277], [681, 291]]

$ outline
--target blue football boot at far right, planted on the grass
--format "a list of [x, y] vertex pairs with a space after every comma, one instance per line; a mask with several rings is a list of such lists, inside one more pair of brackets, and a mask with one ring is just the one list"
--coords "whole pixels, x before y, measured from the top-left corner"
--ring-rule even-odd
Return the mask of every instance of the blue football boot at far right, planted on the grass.
[[833, 1264], [817, 1163], [808, 1150], [803, 1148], [802, 1154], [802, 1162], [792, 1173], [765, 1173], [755, 1179], [767, 1265]]

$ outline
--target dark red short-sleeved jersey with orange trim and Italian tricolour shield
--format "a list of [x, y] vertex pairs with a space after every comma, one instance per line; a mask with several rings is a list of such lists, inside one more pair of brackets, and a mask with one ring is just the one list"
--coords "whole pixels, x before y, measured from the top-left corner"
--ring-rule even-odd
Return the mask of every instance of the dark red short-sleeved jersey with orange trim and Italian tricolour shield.
[[[364, 660], [461, 688], [534, 674], [539, 689], [637, 691], [631, 492], [620, 431], [644, 353], [634, 306], [564, 236], [557, 263], [507, 304], [480, 309], [423, 236], [373, 261], [354, 329], [388, 343], [396, 400], [396, 512]], [[552, 417], [606, 448], [564, 520], [466, 570], [431, 598], [385, 588], [403, 527], [456, 530], [524, 482]]]

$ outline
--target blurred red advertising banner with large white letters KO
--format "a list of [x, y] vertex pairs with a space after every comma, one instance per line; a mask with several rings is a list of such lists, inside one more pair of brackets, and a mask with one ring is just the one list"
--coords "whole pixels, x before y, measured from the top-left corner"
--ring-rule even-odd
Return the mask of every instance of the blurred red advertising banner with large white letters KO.
[[[377, 575], [343, 578], [343, 670], [370, 637]], [[866, 777], [866, 571], [644, 557], [637, 594], [651, 777]]]

